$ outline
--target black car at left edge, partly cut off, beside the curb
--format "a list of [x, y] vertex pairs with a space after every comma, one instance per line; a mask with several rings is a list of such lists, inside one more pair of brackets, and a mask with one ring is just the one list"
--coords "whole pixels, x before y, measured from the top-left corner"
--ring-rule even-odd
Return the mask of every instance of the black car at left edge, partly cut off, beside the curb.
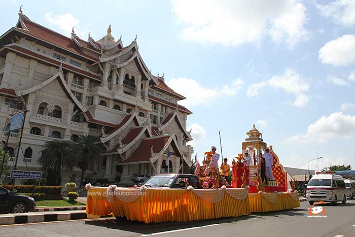
[[35, 202], [32, 197], [0, 187], [0, 213], [24, 213], [34, 209]]

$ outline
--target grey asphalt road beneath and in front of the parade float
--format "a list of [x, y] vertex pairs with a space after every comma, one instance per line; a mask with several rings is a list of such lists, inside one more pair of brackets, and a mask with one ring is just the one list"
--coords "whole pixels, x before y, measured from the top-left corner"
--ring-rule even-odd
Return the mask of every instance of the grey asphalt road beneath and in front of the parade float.
[[192, 222], [144, 224], [115, 218], [0, 226], [5, 236], [355, 236], [355, 199], [324, 206], [326, 218], [310, 218], [308, 202], [289, 211]]

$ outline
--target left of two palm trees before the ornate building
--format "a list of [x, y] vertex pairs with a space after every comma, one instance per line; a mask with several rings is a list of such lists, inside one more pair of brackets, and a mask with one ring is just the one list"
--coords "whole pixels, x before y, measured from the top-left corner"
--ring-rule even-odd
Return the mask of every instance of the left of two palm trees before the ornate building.
[[60, 185], [61, 170], [73, 170], [73, 164], [76, 162], [74, 143], [71, 141], [54, 140], [48, 141], [41, 151], [42, 155], [39, 159], [43, 170], [53, 172], [56, 175], [56, 185]]

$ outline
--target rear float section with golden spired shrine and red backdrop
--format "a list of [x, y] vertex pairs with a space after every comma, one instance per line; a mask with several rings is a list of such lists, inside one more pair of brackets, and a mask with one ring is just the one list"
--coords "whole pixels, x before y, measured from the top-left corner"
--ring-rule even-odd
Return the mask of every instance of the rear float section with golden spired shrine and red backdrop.
[[[250, 186], [249, 190], [249, 205], [251, 212], [269, 212], [288, 210], [300, 207], [299, 195], [295, 190], [295, 180], [288, 180], [290, 175], [283, 169], [278, 156], [270, 146], [269, 152], [272, 154], [272, 174], [273, 181], [262, 182], [260, 177], [260, 158], [259, 154], [265, 152], [267, 146], [262, 139], [262, 133], [256, 129], [255, 125], [247, 133], [248, 138], [242, 143], [242, 150], [248, 150], [252, 156], [250, 166], [244, 166], [241, 162], [242, 154], [239, 154], [238, 162], [232, 161], [232, 185], [231, 187], [242, 187], [243, 177], [246, 183]], [[291, 177], [290, 177], [291, 178]], [[292, 182], [291, 187], [290, 182]]]

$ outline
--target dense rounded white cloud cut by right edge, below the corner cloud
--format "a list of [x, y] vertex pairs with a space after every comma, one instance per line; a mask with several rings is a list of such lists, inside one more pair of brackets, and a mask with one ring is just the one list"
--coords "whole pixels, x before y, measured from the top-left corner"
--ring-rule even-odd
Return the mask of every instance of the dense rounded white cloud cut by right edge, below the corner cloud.
[[355, 36], [344, 35], [327, 42], [319, 49], [318, 58], [323, 63], [346, 66], [355, 62]]

